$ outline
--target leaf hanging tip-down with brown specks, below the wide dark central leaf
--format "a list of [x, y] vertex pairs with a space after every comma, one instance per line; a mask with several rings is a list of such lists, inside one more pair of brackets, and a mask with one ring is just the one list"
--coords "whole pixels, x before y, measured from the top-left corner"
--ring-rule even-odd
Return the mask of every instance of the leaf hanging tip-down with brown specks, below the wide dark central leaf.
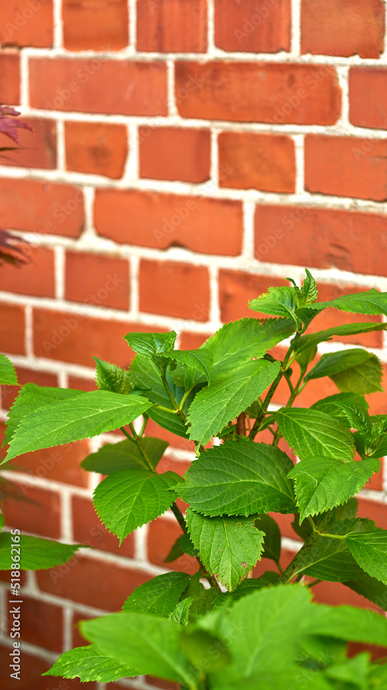
[[261, 558], [264, 533], [256, 529], [252, 518], [205, 517], [189, 510], [187, 526], [207, 571], [229, 590]]

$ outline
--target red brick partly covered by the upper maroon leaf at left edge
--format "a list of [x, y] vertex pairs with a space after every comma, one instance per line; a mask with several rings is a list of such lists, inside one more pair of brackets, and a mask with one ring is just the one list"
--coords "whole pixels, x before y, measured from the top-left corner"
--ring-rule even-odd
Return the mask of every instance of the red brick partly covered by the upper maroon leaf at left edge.
[[56, 123], [37, 117], [23, 117], [30, 130], [18, 129], [21, 148], [7, 152], [2, 159], [3, 166], [20, 168], [56, 168]]

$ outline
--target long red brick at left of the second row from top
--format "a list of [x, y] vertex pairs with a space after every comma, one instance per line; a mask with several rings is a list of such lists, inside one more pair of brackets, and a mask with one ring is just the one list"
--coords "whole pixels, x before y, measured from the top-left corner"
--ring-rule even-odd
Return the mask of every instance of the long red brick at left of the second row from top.
[[31, 58], [33, 108], [119, 115], [167, 114], [161, 62]]

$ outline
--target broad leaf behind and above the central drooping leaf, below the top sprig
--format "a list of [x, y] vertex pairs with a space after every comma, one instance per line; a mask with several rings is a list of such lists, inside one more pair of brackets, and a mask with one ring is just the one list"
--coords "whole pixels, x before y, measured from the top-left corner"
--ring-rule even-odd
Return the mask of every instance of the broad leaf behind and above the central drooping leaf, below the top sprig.
[[[275, 345], [295, 332], [293, 319], [241, 319], [225, 324], [212, 335], [202, 349], [213, 355], [213, 375], [233, 372], [236, 366], [262, 357]], [[257, 396], [258, 397], [258, 396]]]

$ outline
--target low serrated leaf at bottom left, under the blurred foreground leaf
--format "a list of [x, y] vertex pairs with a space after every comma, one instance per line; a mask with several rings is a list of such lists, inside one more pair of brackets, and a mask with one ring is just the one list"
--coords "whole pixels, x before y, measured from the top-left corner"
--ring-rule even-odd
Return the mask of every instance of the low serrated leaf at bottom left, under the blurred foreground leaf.
[[108, 683], [120, 678], [133, 678], [138, 673], [104, 654], [98, 645], [90, 644], [65, 651], [42, 676], [79, 678], [83, 683], [93, 680]]

